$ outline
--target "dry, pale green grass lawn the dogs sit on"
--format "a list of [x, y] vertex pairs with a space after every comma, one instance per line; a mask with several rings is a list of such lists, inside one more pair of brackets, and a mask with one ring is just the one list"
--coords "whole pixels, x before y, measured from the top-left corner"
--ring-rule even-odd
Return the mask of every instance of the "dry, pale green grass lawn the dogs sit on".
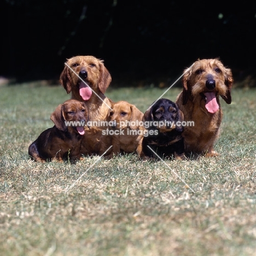
[[[69, 98], [61, 86], [0, 91], [1, 255], [255, 255], [255, 89], [234, 89], [231, 105], [221, 101], [218, 158], [167, 167], [127, 154], [89, 171], [97, 157], [40, 164], [27, 154]], [[106, 95], [144, 112], [164, 91], [109, 88]], [[179, 91], [164, 97], [175, 101]]]

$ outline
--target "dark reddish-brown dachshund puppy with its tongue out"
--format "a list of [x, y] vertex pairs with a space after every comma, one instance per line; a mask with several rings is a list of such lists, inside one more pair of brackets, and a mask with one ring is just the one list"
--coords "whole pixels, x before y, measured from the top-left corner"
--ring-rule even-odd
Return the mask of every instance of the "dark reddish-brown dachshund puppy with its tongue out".
[[39, 135], [28, 148], [28, 154], [38, 162], [80, 159], [80, 144], [88, 121], [84, 102], [67, 100], [55, 109], [50, 118], [55, 125]]

